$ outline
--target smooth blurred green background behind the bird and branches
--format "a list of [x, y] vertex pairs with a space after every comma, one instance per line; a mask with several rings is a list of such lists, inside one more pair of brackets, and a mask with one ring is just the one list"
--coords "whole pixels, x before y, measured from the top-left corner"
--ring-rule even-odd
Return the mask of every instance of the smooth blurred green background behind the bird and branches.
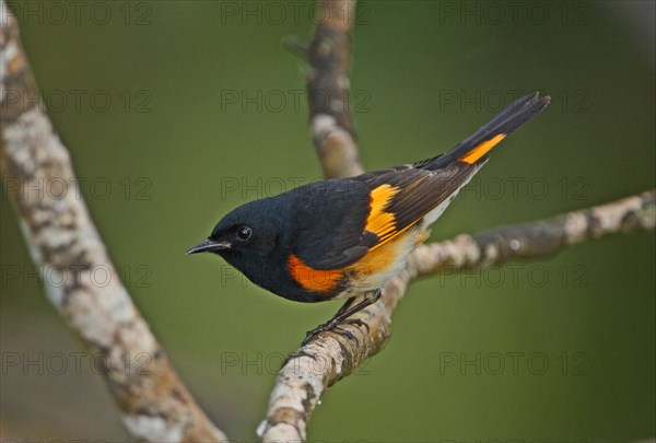
[[[79, 16], [71, 3], [59, 3], [66, 20], [55, 3], [12, 9], [93, 219], [208, 415], [255, 440], [281, 359], [339, 302], [291, 303], [185, 250], [235, 206], [320, 175], [306, 68], [281, 45], [311, 34], [312, 3], [79, 2]], [[367, 168], [450, 148], [518, 92], [553, 97], [434, 240], [654, 186], [653, 2], [370, 1], [358, 18], [351, 86]], [[0, 435], [128, 439], [89, 355], [75, 370], [82, 349], [44, 298], [4, 194], [1, 226]], [[654, 234], [629, 234], [412, 284], [391, 341], [326, 393], [309, 439], [653, 436], [654, 261]], [[57, 352], [61, 374], [48, 364]]]

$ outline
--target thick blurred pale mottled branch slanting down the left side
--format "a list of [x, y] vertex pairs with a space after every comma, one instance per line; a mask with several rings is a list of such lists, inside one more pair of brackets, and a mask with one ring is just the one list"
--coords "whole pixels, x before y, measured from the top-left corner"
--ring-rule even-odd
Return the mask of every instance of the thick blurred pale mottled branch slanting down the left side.
[[[0, 171], [48, 299], [94, 361], [104, 363], [105, 382], [131, 435], [226, 440], [183, 385], [120, 283], [77, 186], [69, 152], [37, 98], [15, 18], [3, 0], [0, 14]], [[61, 195], [44, 191], [58, 183], [68, 185]], [[109, 284], [94, 284], [97, 269], [112, 276]]]

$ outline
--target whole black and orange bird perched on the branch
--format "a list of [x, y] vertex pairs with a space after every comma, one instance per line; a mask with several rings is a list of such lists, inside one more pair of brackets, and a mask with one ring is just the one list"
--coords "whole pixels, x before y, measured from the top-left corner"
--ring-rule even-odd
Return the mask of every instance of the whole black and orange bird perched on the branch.
[[[450, 151], [422, 162], [300, 186], [245, 203], [188, 254], [214, 253], [250, 281], [289, 300], [349, 299], [337, 325], [376, 302], [429, 225], [489, 160], [488, 152], [538, 115], [550, 97], [519, 98]], [[366, 294], [354, 306], [354, 298]]]

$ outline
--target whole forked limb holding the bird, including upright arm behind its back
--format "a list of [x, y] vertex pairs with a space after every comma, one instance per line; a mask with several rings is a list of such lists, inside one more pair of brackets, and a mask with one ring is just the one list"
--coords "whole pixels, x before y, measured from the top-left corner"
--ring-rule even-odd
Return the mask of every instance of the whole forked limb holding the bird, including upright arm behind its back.
[[[355, 1], [319, 0], [323, 9], [355, 9]], [[348, 4], [347, 4], [348, 3]], [[353, 18], [351, 18], [353, 19]], [[326, 178], [362, 173], [353, 140], [350, 109], [340, 101], [348, 85], [350, 26], [320, 23], [309, 46], [311, 74], [307, 79], [313, 141]], [[328, 43], [326, 43], [328, 42]], [[337, 43], [333, 43], [337, 42]], [[331, 44], [332, 43], [332, 44]], [[295, 44], [296, 49], [303, 47]], [[320, 48], [328, 49], [323, 53]], [[319, 113], [313, 93], [327, 91], [331, 113]], [[351, 137], [349, 137], [351, 136]], [[653, 230], [656, 190], [595, 208], [570, 212], [535, 223], [501, 228], [480, 235], [422, 245], [409, 258], [408, 267], [383, 289], [380, 300], [343, 324], [354, 337], [326, 331], [288, 357], [269, 399], [267, 418], [258, 428], [262, 442], [305, 441], [307, 423], [324, 390], [350, 375], [368, 357], [380, 351], [390, 337], [391, 314], [415, 278], [446, 269], [487, 267], [518, 258], [540, 258], [571, 245], [605, 235]], [[355, 302], [358, 303], [358, 301]]]

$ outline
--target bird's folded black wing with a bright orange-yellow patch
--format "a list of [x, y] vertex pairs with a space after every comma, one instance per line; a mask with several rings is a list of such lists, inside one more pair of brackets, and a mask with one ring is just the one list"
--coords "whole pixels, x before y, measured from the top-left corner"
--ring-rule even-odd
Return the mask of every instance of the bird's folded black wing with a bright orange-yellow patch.
[[352, 265], [419, 222], [478, 168], [465, 163], [438, 171], [402, 167], [326, 182], [321, 198], [300, 196], [292, 253], [314, 269]]

